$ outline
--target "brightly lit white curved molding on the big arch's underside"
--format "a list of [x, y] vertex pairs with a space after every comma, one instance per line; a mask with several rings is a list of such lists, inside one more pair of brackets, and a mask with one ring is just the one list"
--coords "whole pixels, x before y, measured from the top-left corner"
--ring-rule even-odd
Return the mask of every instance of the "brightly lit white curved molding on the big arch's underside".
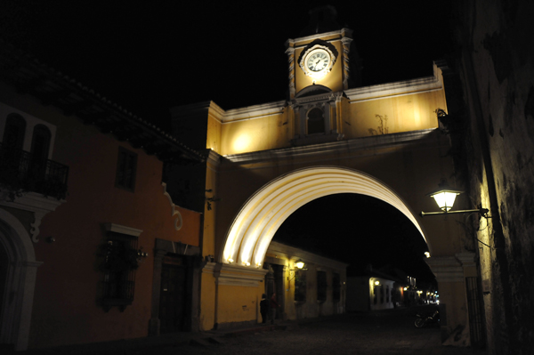
[[316, 198], [338, 193], [367, 195], [394, 206], [414, 223], [432, 253], [409, 206], [384, 182], [349, 168], [315, 166], [281, 175], [248, 198], [231, 224], [219, 262], [260, 267], [272, 237], [290, 214]]

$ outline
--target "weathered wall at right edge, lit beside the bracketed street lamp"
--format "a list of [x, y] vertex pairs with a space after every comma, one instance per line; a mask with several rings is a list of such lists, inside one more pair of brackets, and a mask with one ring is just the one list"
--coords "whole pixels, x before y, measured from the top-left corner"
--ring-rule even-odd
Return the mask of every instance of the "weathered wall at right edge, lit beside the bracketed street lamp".
[[534, 343], [533, 15], [528, 0], [457, 1], [451, 18], [457, 47], [441, 121], [471, 208], [490, 209], [491, 218], [466, 216], [465, 229], [480, 258], [491, 354], [531, 353]]

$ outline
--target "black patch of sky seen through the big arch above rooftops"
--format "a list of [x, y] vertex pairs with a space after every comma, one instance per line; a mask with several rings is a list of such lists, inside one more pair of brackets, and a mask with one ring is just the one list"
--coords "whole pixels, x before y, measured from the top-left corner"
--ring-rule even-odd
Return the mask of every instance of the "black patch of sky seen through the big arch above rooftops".
[[365, 195], [317, 198], [291, 214], [273, 241], [346, 262], [349, 276], [371, 268], [434, 280], [424, 262], [425, 240], [414, 224], [395, 207]]

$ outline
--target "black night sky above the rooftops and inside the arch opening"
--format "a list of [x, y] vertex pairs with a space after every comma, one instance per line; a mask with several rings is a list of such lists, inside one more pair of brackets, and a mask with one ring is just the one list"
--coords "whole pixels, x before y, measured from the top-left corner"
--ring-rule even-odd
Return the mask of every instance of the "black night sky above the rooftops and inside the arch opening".
[[[308, 24], [308, 11], [323, 4], [334, 5], [337, 22], [354, 31], [363, 85], [432, 75], [432, 61], [450, 51], [448, 3], [3, 0], [0, 34], [53, 69], [168, 129], [168, 109], [177, 105], [211, 100], [223, 109], [234, 109], [285, 100], [284, 43], [298, 37]], [[374, 255], [384, 244], [398, 249], [398, 243], [391, 238], [385, 243], [384, 238], [400, 230], [411, 233], [405, 231], [408, 227], [400, 229], [398, 222], [383, 223], [384, 217], [354, 220], [366, 209], [358, 209], [362, 204], [353, 196], [341, 198], [344, 217], [332, 213], [331, 219], [350, 223], [338, 230], [317, 230], [333, 238], [350, 238], [353, 255]], [[387, 209], [363, 200], [363, 206]], [[320, 210], [321, 202], [313, 205], [319, 207], [297, 211], [280, 233], [295, 230], [292, 221], [298, 216]], [[372, 238], [362, 237], [362, 226]], [[387, 254], [378, 259], [376, 263], [397, 257]]]

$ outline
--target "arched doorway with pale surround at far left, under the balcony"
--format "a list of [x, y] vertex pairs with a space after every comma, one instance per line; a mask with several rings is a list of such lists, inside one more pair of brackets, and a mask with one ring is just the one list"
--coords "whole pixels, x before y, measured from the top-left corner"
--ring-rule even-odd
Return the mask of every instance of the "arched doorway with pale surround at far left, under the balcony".
[[36, 262], [28, 231], [3, 209], [0, 209], [0, 248], [7, 259], [2, 268], [2, 294], [14, 295], [0, 297], [0, 343], [12, 343], [15, 350], [23, 351], [28, 348], [36, 269], [41, 262]]

